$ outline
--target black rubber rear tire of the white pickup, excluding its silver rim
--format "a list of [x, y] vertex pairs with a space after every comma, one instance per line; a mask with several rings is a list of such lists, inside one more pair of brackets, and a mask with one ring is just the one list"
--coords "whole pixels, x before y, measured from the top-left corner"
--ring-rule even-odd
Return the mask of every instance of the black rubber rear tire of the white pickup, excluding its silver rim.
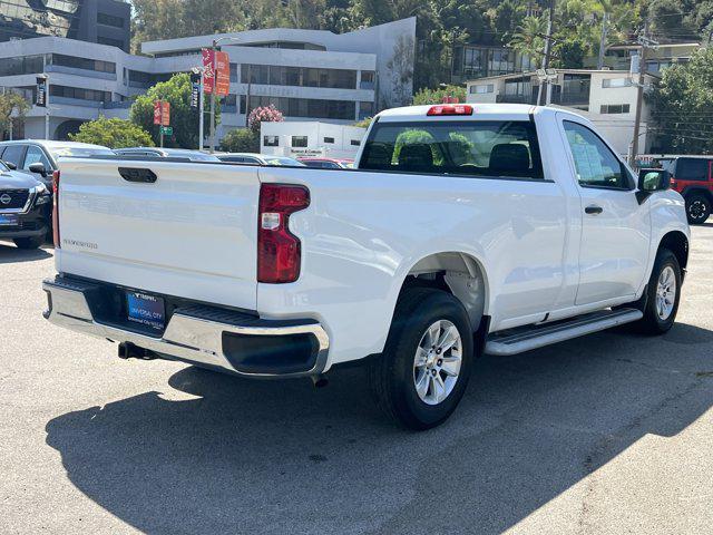
[[[461, 361], [450, 393], [437, 405], [429, 405], [419, 397], [416, 389], [414, 358], [426, 331], [439, 320], [447, 320], [458, 330]], [[451, 351], [449, 356], [453, 354], [452, 350], [447, 350], [442, 356], [448, 351]], [[468, 313], [460, 301], [441, 290], [404, 290], [397, 304], [384, 352], [369, 369], [377, 403], [391, 420], [408, 429], [430, 429], [442, 424], [453, 412], [466, 391], [472, 367], [472, 331]], [[438, 362], [440, 366], [442, 360]], [[422, 370], [428, 372], [428, 369]], [[441, 377], [448, 379], [442, 370], [439, 369], [437, 373], [442, 373]], [[427, 390], [424, 395], [429, 391], [432, 390]]]

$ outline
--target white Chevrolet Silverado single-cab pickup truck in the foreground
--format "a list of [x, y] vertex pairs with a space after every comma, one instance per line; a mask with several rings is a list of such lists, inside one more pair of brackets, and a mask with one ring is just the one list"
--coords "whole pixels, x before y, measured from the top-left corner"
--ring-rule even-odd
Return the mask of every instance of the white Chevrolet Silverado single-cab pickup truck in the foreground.
[[683, 198], [578, 115], [392, 109], [356, 167], [66, 158], [45, 315], [125, 358], [241, 376], [319, 383], [363, 360], [416, 429], [448, 418], [484, 352], [674, 322]]

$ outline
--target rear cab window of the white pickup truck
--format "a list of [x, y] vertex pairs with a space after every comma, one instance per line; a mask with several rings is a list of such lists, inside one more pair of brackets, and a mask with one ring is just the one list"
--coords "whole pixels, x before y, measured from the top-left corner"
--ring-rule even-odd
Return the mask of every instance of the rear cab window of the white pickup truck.
[[377, 123], [360, 169], [544, 179], [530, 120]]

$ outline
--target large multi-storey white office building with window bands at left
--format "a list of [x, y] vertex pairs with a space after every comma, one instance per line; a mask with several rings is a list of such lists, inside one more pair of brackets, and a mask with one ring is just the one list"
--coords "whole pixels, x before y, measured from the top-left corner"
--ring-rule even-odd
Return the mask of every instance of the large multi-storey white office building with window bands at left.
[[[133, 96], [198, 67], [201, 49], [218, 38], [231, 58], [218, 139], [261, 105], [274, 104], [286, 120], [350, 124], [411, 100], [416, 18], [343, 35], [275, 28], [150, 41], [141, 45], [145, 56], [57, 37], [0, 42], [0, 87], [29, 98], [47, 72], [50, 137], [65, 138], [101, 115], [128, 117]], [[33, 106], [16, 135], [45, 137], [45, 109]]]

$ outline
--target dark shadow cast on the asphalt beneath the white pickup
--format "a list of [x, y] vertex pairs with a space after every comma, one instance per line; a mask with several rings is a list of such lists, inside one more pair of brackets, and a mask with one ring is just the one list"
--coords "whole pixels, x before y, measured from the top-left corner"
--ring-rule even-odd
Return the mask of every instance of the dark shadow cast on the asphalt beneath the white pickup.
[[47, 444], [82, 493], [147, 533], [500, 533], [705, 412], [712, 344], [677, 324], [481, 358], [453, 417], [421, 434], [381, 419], [360, 369], [314, 390], [186, 368], [169, 379], [182, 399], [69, 412]]

